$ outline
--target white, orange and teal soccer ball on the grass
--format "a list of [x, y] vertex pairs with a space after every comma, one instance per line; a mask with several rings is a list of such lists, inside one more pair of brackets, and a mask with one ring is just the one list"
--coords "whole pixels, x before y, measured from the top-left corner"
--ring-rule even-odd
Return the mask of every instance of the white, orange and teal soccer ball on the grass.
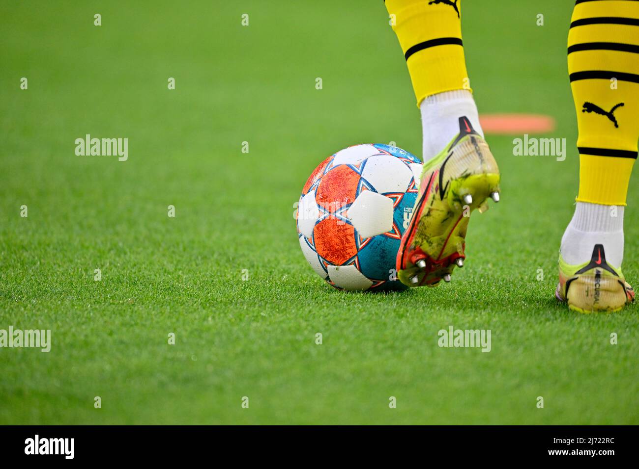
[[401, 148], [348, 147], [304, 184], [297, 235], [304, 257], [342, 290], [402, 290], [395, 270], [417, 198], [422, 163]]

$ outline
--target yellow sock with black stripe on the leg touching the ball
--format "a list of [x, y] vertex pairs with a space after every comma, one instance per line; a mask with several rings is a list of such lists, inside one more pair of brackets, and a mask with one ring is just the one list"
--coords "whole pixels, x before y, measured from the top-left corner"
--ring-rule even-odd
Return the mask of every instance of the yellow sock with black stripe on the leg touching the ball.
[[461, 41], [460, 2], [385, 0], [418, 107], [426, 96], [470, 89]]

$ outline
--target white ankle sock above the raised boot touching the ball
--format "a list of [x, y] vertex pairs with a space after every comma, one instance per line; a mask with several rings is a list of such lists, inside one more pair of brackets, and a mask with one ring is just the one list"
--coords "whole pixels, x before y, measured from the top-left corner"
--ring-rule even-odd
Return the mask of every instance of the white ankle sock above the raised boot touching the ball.
[[424, 163], [436, 156], [459, 133], [459, 117], [470, 119], [475, 131], [482, 137], [479, 114], [473, 94], [467, 89], [444, 91], [428, 96], [419, 106], [422, 111], [424, 132]]

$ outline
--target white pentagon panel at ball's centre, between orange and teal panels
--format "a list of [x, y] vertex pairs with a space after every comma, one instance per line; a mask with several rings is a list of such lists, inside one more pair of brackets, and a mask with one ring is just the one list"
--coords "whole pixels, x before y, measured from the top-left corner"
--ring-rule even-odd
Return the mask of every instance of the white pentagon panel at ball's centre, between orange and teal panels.
[[389, 232], [393, 227], [393, 201], [373, 191], [362, 191], [348, 209], [348, 219], [362, 238]]

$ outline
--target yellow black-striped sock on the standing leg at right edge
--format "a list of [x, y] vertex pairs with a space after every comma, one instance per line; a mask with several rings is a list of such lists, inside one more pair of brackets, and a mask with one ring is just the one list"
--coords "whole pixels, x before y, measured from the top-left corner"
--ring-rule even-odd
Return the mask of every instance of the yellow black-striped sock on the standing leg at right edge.
[[626, 205], [639, 138], [639, 1], [577, 0], [568, 34], [579, 202]]

